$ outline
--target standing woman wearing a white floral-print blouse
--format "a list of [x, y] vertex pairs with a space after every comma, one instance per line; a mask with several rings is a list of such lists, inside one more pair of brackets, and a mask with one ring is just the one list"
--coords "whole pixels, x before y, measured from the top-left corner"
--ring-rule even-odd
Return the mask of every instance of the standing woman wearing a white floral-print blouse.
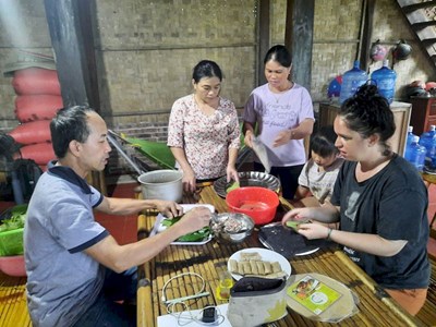
[[167, 144], [183, 171], [186, 192], [194, 192], [197, 182], [222, 175], [239, 181], [238, 113], [232, 101], [219, 96], [221, 82], [219, 65], [202, 60], [192, 75], [194, 93], [175, 100], [171, 109]]

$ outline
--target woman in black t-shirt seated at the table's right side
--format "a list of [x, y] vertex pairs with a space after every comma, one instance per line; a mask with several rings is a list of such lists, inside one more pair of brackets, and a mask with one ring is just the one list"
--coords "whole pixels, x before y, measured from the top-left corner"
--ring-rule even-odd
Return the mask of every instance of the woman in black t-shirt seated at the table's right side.
[[[307, 239], [330, 239], [379, 286], [415, 315], [428, 282], [427, 190], [414, 167], [392, 153], [393, 114], [376, 86], [364, 85], [335, 119], [336, 146], [346, 158], [330, 204], [299, 208], [287, 220]], [[340, 222], [331, 229], [326, 223]]]

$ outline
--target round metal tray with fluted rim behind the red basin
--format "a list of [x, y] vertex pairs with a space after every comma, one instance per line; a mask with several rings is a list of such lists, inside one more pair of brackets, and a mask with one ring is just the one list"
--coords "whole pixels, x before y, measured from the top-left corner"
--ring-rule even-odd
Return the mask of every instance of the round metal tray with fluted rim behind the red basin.
[[[269, 173], [259, 171], [241, 171], [238, 174], [239, 174], [239, 184], [241, 187], [262, 186], [272, 190], [277, 193], [280, 191], [281, 185], [279, 179]], [[227, 196], [226, 190], [229, 189], [232, 185], [232, 183], [233, 181], [228, 183], [227, 178], [221, 177], [215, 181], [214, 190], [219, 196], [226, 197]]]

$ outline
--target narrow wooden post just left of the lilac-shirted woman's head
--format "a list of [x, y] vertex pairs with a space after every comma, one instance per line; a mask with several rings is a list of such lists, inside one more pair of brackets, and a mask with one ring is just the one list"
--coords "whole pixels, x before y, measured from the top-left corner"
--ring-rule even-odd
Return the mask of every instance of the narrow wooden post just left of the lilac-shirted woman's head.
[[270, 47], [270, 2], [269, 0], [259, 0], [258, 2], [258, 23], [257, 23], [257, 85], [266, 83], [264, 57]]

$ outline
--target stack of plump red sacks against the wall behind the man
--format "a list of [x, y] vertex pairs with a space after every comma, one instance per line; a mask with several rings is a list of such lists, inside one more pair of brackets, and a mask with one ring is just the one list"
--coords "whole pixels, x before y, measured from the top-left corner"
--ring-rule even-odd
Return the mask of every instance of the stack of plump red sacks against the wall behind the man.
[[61, 88], [55, 70], [27, 68], [14, 72], [15, 116], [20, 125], [9, 134], [22, 144], [21, 156], [46, 170], [55, 159], [50, 120], [62, 108]]

